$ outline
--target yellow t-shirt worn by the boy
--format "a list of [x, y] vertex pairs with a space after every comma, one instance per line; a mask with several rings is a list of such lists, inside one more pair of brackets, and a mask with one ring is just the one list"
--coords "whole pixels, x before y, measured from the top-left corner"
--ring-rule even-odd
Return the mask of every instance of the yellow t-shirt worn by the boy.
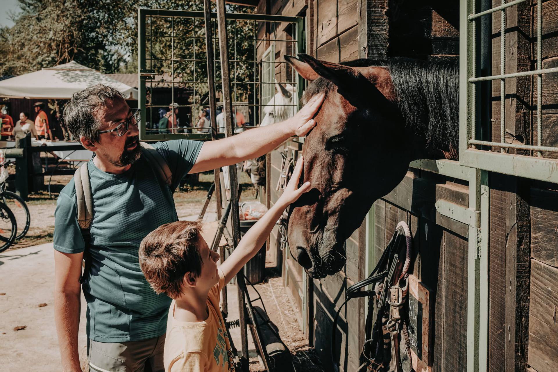
[[172, 301], [163, 355], [166, 372], [234, 372], [233, 353], [219, 308], [225, 276], [221, 269], [218, 272], [219, 283], [208, 294], [209, 317], [206, 321], [177, 321], [174, 317], [175, 302]]

